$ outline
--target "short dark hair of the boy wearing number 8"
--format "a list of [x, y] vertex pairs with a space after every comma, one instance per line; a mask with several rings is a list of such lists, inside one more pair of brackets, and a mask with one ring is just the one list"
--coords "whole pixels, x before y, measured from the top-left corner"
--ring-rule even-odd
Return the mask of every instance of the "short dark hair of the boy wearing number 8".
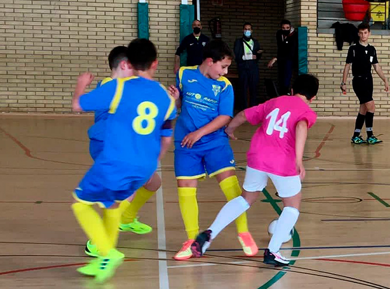
[[148, 70], [157, 59], [156, 46], [148, 39], [134, 39], [127, 47], [127, 58], [135, 70]]

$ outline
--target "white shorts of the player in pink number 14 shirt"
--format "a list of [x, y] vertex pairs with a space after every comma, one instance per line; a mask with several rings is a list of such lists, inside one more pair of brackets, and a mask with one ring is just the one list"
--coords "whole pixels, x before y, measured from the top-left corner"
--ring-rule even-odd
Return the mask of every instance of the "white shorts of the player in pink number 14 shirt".
[[302, 189], [299, 175], [280, 176], [273, 173], [266, 173], [247, 166], [245, 173], [244, 185], [242, 186], [247, 192], [262, 191], [270, 178], [276, 188], [278, 195], [282, 198], [289, 198]]

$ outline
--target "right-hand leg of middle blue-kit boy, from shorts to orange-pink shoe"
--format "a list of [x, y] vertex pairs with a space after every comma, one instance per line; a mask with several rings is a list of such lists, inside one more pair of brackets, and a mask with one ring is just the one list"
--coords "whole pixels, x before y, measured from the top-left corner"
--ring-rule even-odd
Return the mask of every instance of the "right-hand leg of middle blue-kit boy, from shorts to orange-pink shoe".
[[[242, 192], [238, 178], [235, 175], [234, 154], [230, 145], [225, 144], [208, 150], [204, 159], [207, 172], [211, 172], [210, 177], [215, 176], [227, 201], [240, 196]], [[248, 230], [246, 212], [235, 219], [235, 224], [238, 240], [244, 253], [247, 256], [254, 256], [258, 252], [258, 248]]]

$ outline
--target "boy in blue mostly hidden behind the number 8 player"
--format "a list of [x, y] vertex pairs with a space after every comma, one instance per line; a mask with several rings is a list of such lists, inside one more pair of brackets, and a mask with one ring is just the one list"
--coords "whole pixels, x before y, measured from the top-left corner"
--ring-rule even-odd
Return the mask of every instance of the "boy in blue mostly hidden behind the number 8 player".
[[[111, 70], [110, 77], [106, 77], [98, 82], [97, 87], [106, 84], [107, 82], [117, 79], [131, 77], [134, 75], [133, 69], [127, 58], [127, 47], [117, 46], [110, 51], [108, 55], [108, 65]], [[89, 128], [89, 152], [93, 160], [103, 150], [106, 120], [109, 116], [108, 110], [95, 112], [95, 123]], [[153, 174], [152, 178], [141, 187], [132, 202], [124, 200], [121, 205], [121, 218], [119, 224], [120, 231], [130, 231], [137, 234], [147, 234], [152, 231], [152, 227], [138, 221], [137, 213], [139, 209], [156, 193], [161, 186], [161, 179], [157, 173]], [[97, 257], [99, 255], [98, 248], [95, 244], [88, 240], [85, 245], [85, 253], [87, 255]]]

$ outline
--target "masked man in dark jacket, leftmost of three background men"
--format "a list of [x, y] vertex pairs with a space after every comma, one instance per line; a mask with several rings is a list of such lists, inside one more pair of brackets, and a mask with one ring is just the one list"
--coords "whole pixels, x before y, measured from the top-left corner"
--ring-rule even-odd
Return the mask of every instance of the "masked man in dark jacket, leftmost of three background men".
[[180, 55], [184, 50], [187, 51], [187, 66], [195, 66], [202, 64], [203, 61], [203, 47], [209, 42], [209, 38], [202, 34], [202, 22], [194, 20], [192, 22], [193, 33], [187, 35], [180, 43], [175, 55], [175, 69], [176, 74], [180, 68]]

